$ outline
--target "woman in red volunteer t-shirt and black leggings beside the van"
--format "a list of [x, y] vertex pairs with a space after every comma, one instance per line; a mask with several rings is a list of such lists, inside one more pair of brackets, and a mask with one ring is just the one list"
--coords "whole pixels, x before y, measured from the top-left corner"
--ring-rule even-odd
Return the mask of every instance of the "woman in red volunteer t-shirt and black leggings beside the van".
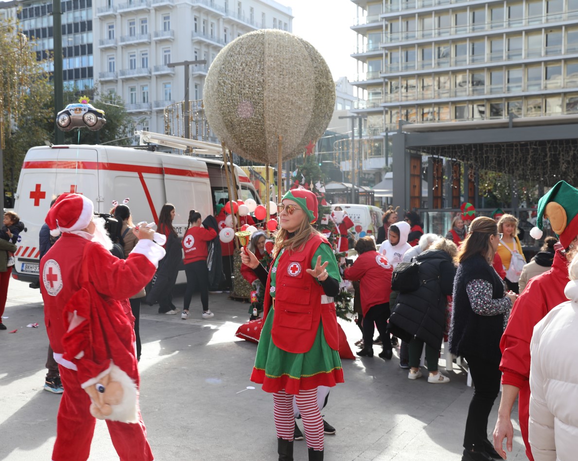
[[201, 292], [203, 319], [210, 319], [213, 313], [209, 310], [209, 270], [207, 269], [207, 242], [217, 236], [214, 229], [205, 229], [201, 224], [201, 213], [195, 210], [188, 212], [187, 230], [181, 242], [184, 250], [184, 273], [187, 276], [187, 290], [184, 292], [184, 305], [181, 319], [188, 319], [188, 308], [191, 305], [195, 289]]

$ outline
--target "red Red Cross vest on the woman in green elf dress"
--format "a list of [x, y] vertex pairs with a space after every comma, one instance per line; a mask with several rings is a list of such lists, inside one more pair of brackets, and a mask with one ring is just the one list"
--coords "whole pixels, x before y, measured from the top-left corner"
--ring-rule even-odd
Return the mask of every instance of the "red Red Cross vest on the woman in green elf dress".
[[[334, 302], [327, 301], [321, 284], [310, 276], [313, 254], [321, 244], [329, 244], [324, 237], [312, 236], [302, 251], [284, 251], [277, 264], [275, 279], [275, 316], [271, 338], [280, 349], [302, 354], [311, 349], [319, 322], [323, 322], [325, 341], [331, 349], [339, 349], [337, 315]], [[264, 318], [271, 297], [271, 272], [265, 288]], [[332, 298], [329, 298], [331, 300]]]

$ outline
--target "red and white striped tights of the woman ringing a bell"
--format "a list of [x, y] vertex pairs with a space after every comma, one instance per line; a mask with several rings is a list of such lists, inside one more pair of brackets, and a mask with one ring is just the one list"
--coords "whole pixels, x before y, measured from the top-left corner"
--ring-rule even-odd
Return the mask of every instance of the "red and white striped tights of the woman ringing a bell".
[[[293, 440], [295, 430], [293, 397], [293, 394], [287, 394], [285, 390], [273, 394], [277, 438]], [[307, 447], [319, 451], [323, 450], [323, 419], [317, 404], [317, 388], [300, 390], [299, 394], [295, 396], [295, 400], [299, 413], [301, 413]]]

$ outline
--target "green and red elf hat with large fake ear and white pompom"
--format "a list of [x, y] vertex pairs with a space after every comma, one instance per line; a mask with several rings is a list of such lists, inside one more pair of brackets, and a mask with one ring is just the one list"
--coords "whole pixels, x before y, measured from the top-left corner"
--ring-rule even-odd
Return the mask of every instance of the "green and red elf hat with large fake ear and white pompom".
[[578, 235], [578, 189], [560, 181], [539, 200], [537, 227], [530, 230], [530, 235], [536, 240], [542, 238], [542, 219], [550, 221], [560, 243], [568, 248]]

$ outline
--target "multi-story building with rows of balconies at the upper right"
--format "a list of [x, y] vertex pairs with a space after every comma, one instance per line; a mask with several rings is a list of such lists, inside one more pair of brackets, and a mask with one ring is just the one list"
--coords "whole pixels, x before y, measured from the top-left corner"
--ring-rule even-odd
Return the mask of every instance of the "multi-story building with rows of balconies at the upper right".
[[578, 0], [351, 0], [369, 130], [578, 112]]

